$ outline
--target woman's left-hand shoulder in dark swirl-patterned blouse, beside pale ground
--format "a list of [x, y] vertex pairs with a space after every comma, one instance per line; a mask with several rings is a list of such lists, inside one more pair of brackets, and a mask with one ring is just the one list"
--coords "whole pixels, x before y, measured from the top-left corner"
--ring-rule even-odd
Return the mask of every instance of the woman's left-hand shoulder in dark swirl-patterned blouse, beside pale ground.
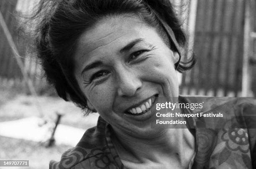
[[[59, 162], [50, 161], [50, 169], [91, 168], [92, 161], [110, 154], [105, 139], [106, 122], [99, 118], [97, 126], [88, 129], [77, 146], [65, 151]], [[97, 167], [96, 167], [97, 168]]]

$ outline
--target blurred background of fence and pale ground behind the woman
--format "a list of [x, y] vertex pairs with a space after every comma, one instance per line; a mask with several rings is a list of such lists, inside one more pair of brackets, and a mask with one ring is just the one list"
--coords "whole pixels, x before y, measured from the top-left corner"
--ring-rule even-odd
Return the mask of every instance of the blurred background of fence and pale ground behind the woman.
[[[255, 96], [256, 1], [171, 0], [184, 22], [184, 58], [195, 53], [195, 68], [180, 74], [180, 93]], [[95, 126], [73, 103], [57, 97], [20, 27], [38, 0], [0, 0], [0, 160], [29, 160], [31, 169], [76, 145]], [[72, 135], [72, 137], [71, 137]], [[8, 167], [0, 167], [8, 168]], [[24, 167], [10, 167], [24, 168]]]

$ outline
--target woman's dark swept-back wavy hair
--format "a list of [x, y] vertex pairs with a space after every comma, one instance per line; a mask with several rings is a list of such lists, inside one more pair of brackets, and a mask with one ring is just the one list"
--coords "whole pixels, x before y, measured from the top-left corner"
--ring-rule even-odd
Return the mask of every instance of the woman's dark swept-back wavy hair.
[[[72, 55], [79, 36], [106, 16], [136, 15], [157, 28], [166, 44], [177, 50], [156, 13], [172, 28], [180, 47], [184, 47], [186, 36], [169, 0], [41, 0], [30, 19], [36, 23], [36, 50], [47, 81], [65, 101], [73, 101], [82, 109], [88, 108], [86, 96], [74, 77]], [[175, 66], [177, 71], [183, 72], [194, 64], [192, 55]]]

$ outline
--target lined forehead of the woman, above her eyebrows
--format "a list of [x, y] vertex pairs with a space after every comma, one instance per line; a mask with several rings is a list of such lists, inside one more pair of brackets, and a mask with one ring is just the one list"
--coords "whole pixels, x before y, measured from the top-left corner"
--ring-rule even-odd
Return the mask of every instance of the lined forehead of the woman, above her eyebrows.
[[122, 48], [127, 42], [137, 38], [149, 40], [148, 32], [152, 31], [155, 29], [136, 17], [104, 18], [79, 37], [75, 55], [80, 58], [106, 50], [108, 47]]

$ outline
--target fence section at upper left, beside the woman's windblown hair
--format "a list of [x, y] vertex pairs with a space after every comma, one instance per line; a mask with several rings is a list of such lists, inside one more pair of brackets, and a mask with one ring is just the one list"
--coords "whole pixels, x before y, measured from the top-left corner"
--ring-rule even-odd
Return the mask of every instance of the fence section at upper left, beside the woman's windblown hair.
[[[6, 33], [4, 33], [2, 26], [0, 26], [0, 83], [5, 86], [22, 86], [27, 88], [27, 81], [31, 81], [33, 86], [41, 87], [40, 84], [45, 84], [43, 79], [43, 72], [38, 64], [36, 57], [28, 52], [29, 38], [20, 36], [22, 31], [18, 31], [20, 26], [20, 18], [17, 7], [27, 8], [31, 0], [23, 0], [22, 4], [17, 6], [18, 0], [0, 0], [0, 12], [3, 15], [5, 24], [12, 37], [15, 47], [18, 50], [18, 55], [14, 55], [14, 51], [8, 43]], [[18, 64], [17, 57], [19, 57], [21, 64]], [[26, 72], [28, 78], [24, 79]], [[25, 89], [25, 91], [27, 91]]]

